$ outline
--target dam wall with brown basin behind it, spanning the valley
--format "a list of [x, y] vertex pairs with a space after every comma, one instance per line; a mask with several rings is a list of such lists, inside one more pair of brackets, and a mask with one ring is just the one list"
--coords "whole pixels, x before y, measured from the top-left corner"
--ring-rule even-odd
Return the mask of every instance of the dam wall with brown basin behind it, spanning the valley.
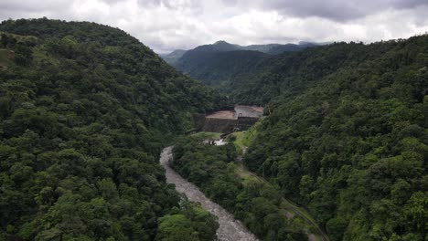
[[248, 130], [262, 117], [260, 106], [236, 105], [234, 110], [220, 110], [205, 115], [201, 131], [229, 133]]

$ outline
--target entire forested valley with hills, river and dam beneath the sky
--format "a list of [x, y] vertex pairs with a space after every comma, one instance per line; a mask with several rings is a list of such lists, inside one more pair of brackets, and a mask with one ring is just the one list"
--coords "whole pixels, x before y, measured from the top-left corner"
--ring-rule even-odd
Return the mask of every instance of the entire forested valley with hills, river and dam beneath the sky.
[[0, 37], [0, 240], [427, 238], [427, 34], [173, 66], [90, 22]]

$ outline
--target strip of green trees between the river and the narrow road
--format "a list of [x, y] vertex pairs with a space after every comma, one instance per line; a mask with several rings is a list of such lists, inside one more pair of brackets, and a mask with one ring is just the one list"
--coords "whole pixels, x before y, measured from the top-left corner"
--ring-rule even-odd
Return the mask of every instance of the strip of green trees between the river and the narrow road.
[[257, 181], [243, 184], [233, 167], [235, 159], [233, 143], [215, 146], [189, 137], [177, 142], [171, 165], [263, 240], [307, 240], [279, 207], [279, 190]]

